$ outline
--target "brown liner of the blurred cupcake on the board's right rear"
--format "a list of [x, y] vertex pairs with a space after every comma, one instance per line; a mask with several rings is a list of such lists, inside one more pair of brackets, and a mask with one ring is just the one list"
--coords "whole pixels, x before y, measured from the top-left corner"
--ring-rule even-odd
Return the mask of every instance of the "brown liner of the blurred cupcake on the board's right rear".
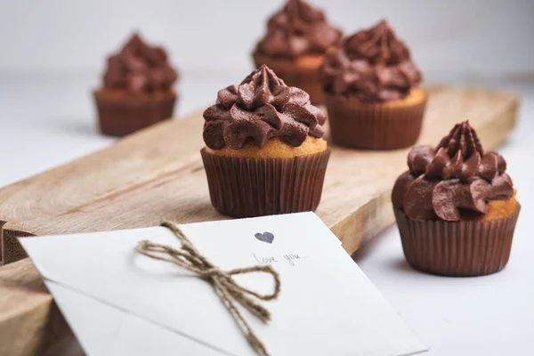
[[426, 96], [411, 105], [361, 103], [356, 98], [325, 93], [332, 141], [366, 150], [409, 147], [421, 134]]

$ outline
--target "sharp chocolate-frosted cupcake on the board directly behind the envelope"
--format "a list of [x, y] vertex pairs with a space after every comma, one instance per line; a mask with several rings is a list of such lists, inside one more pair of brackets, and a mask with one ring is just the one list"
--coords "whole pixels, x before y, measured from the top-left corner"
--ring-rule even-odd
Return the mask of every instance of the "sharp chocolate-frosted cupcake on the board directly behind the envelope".
[[326, 117], [303, 90], [263, 65], [219, 91], [204, 119], [200, 153], [216, 210], [247, 217], [319, 205], [330, 157]]

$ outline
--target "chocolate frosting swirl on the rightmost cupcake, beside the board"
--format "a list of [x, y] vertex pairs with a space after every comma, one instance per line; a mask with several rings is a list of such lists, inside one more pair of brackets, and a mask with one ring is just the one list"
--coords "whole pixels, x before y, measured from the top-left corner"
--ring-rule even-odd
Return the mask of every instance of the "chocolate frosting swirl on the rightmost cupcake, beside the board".
[[456, 222], [486, 213], [490, 200], [514, 196], [506, 161], [486, 152], [467, 121], [457, 124], [438, 147], [416, 146], [408, 155], [409, 171], [401, 174], [392, 203], [413, 220]]

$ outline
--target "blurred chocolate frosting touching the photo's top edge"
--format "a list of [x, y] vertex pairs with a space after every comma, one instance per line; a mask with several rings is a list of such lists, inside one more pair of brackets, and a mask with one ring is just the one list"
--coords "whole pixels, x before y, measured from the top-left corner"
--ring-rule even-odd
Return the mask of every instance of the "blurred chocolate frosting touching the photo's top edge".
[[256, 52], [271, 57], [295, 58], [323, 54], [339, 44], [341, 31], [328, 25], [325, 15], [302, 0], [289, 0], [267, 22], [267, 33]]

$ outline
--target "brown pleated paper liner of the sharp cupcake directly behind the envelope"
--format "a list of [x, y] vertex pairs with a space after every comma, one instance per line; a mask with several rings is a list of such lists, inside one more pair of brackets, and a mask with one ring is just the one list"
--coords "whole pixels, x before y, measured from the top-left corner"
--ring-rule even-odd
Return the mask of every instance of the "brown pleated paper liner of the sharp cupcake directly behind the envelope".
[[330, 150], [296, 158], [233, 158], [200, 150], [212, 205], [233, 217], [313, 211]]

